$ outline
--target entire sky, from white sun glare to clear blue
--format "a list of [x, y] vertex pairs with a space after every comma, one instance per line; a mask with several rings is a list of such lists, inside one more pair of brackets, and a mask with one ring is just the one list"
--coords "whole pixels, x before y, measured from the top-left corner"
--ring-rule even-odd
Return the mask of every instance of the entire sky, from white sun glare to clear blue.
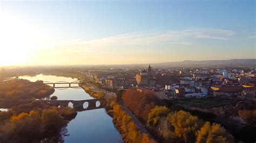
[[0, 1], [0, 66], [256, 58], [255, 1]]

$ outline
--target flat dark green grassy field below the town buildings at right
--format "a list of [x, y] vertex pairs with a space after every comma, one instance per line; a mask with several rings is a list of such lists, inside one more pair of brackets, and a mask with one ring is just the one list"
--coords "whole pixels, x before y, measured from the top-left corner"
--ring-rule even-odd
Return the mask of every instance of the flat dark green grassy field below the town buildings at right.
[[187, 98], [187, 99], [178, 99], [170, 101], [174, 104], [184, 106], [184, 107], [196, 107], [196, 108], [214, 108], [218, 106], [225, 106], [228, 104], [236, 104], [239, 102], [239, 99], [224, 99], [224, 98], [215, 98], [215, 97], [209, 97], [206, 99], [198, 99], [198, 98]]

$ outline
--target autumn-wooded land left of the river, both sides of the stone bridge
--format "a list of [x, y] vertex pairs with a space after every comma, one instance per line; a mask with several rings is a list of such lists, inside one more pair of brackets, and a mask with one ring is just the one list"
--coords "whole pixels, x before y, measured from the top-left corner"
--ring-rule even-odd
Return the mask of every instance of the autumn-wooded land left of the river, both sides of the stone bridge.
[[50, 97], [54, 88], [43, 81], [19, 79], [0, 84], [0, 108], [5, 106], [4, 100], [31, 100], [15, 102], [8, 111], [0, 111], [0, 142], [63, 142], [65, 127], [77, 112], [69, 106], [52, 107], [36, 100]]

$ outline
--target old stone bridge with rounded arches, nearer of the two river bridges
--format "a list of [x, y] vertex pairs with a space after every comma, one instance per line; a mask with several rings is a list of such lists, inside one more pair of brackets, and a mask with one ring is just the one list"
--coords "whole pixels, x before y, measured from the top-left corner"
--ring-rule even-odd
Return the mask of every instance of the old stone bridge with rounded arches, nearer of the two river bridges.
[[[86, 99], [86, 100], [80, 100], [80, 101], [74, 101], [74, 100], [50, 100], [46, 101], [43, 99], [36, 100], [39, 102], [43, 102], [50, 106], [69, 106], [70, 103], [73, 104], [73, 109], [76, 111], [85, 111], [85, 110], [95, 110], [100, 108], [105, 108], [106, 101], [105, 99]], [[0, 108], [12, 108], [12, 106], [17, 106], [19, 104], [29, 104], [32, 100], [29, 99], [0, 99]], [[100, 103], [97, 105], [97, 103]], [[86, 106], [84, 108], [84, 106]]]

